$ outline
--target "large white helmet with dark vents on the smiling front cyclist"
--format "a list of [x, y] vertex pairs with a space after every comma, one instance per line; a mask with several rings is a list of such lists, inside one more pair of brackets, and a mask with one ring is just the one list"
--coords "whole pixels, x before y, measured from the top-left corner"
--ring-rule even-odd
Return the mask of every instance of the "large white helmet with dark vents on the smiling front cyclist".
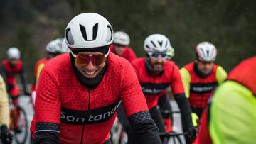
[[104, 47], [112, 44], [112, 26], [100, 14], [81, 13], [68, 23], [65, 40], [69, 48], [78, 50]]

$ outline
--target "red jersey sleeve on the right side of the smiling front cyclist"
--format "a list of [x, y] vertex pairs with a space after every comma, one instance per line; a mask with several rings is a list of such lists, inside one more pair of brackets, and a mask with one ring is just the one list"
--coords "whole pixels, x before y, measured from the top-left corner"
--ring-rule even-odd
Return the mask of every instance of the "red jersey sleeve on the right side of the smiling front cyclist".
[[122, 103], [127, 116], [141, 111], [148, 111], [142, 88], [132, 65], [126, 60], [122, 71]]

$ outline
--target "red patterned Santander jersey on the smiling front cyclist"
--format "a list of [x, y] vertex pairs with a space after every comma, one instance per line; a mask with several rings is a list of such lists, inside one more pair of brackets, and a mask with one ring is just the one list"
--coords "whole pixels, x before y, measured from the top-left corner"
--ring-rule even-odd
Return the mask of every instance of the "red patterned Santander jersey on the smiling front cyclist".
[[148, 111], [132, 65], [110, 53], [107, 70], [95, 89], [75, 77], [68, 54], [59, 55], [41, 71], [36, 93], [35, 133], [60, 133], [60, 143], [103, 143], [117, 115], [120, 101], [127, 116]]

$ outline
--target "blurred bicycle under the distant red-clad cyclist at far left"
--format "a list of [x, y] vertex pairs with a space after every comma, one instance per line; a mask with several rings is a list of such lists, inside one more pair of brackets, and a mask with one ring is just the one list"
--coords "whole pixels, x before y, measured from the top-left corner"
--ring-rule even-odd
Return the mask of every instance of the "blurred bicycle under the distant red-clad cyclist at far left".
[[[14, 131], [14, 139], [18, 144], [26, 143], [26, 139], [28, 137], [28, 120], [27, 120], [26, 111], [21, 106], [18, 106], [15, 109], [15, 106], [14, 104], [12, 104], [12, 102], [10, 102], [10, 109], [11, 109], [10, 129], [11, 131]], [[18, 113], [18, 119], [16, 119], [16, 112]], [[16, 121], [17, 121], [18, 130], [14, 129], [16, 128], [15, 126]]]

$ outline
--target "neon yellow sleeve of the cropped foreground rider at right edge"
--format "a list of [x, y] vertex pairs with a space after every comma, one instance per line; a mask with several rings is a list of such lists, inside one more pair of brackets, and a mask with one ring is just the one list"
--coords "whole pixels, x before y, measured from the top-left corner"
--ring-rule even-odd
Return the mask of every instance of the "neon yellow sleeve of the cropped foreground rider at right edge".
[[227, 81], [216, 90], [210, 106], [213, 143], [255, 143], [256, 99], [249, 89]]

